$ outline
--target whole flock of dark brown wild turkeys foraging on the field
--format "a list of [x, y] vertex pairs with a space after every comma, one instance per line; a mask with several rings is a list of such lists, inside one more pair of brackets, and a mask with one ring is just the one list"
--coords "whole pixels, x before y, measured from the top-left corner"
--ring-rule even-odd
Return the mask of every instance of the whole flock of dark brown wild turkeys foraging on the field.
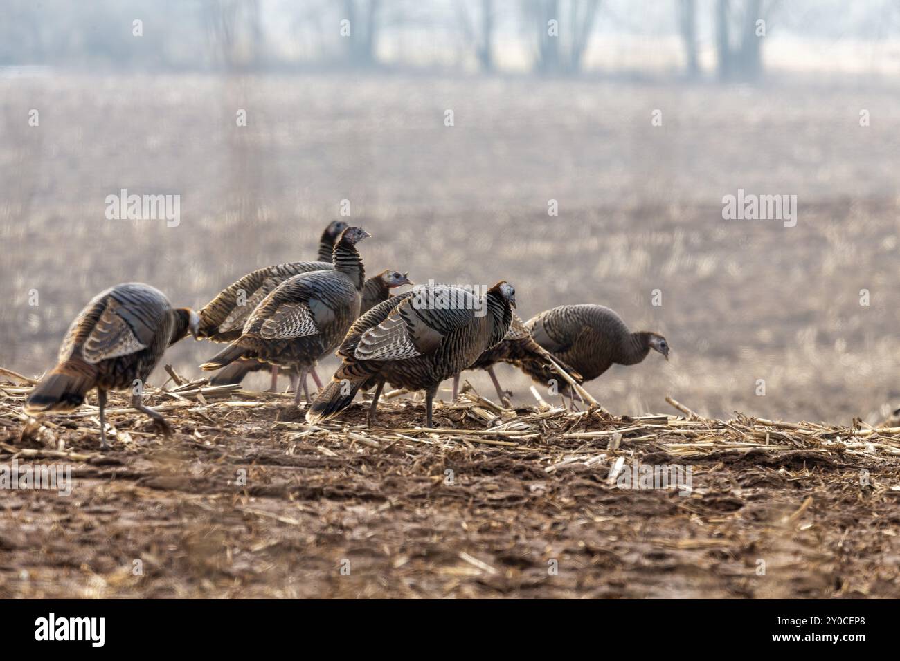
[[[359, 390], [375, 389], [369, 424], [385, 383], [424, 390], [428, 427], [441, 381], [460, 372], [486, 370], [497, 395], [503, 391], [494, 373], [509, 362], [532, 379], [551, 383], [567, 372], [573, 382], [597, 378], [613, 363], [632, 365], [651, 349], [668, 359], [662, 335], [632, 333], [611, 309], [567, 305], [545, 310], [523, 322], [512, 308], [516, 291], [500, 281], [479, 297], [454, 285], [414, 286], [399, 295], [391, 290], [412, 285], [406, 273], [383, 271], [365, 279], [357, 244], [369, 237], [362, 228], [336, 220], [320, 240], [319, 261], [277, 264], [248, 273], [199, 312], [172, 308], [166, 296], [147, 284], [129, 282], [97, 294], [69, 326], [58, 364], [40, 380], [26, 403], [27, 413], [67, 411], [97, 389], [100, 440], [108, 447], [103, 406], [108, 390], [131, 390], [131, 406], [151, 416], [163, 431], [162, 415], [141, 403], [141, 389], [166, 346], [188, 333], [195, 339], [228, 343], [202, 364], [220, 370], [213, 383], [239, 383], [250, 372], [290, 374], [299, 404], [310, 403], [306, 419], [315, 424], [338, 415]], [[323, 387], [315, 367], [337, 350], [341, 364]], [[310, 397], [307, 376], [319, 392]], [[561, 395], [575, 396], [568, 380]]]

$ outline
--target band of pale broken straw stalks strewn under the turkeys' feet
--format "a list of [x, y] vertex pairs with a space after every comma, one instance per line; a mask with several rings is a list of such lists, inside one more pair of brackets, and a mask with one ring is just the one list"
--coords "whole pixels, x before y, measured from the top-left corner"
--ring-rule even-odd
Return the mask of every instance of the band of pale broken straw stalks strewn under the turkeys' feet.
[[[667, 397], [666, 401], [681, 415], [615, 416], [602, 410], [590, 395], [586, 410], [573, 411], [548, 404], [532, 389], [536, 406], [507, 407], [479, 395], [466, 382], [455, 403], [439, 405], [437, 411], [454, 416], [455, 427], [427, 429], [421, 406], [409, 400], [383, 401], [379, 415], [386, 426], [368, 429], [363, 419], [365, 404], [348, 409], [346, 415], [326, 424], [309, 425], [298, 416], [295, 421], [278, 420], [290, 408], [286, 395], [253, 393], [239, 386], [208, 386], [205, 379], [186, 380], [166, 366], [170, 388], [147, 389], [145, 397], [170, 423], [183, 431], [191, 429], [227, 429], [229, 425], [252, 421], [260, 427], [288, 434], [289, 439], [315, 439], [320, 445], [349, 443], [383, 451], [398, 444], [434, 444], [442, 446], [493, 446], [516, 451], [534, 445], [548, 450], [546, 469], [581, 463], [615, 465], [618, 457], [634, 457], [645, 451], [663, 450], [673, 460], [690, 460], [708, 455], [748, 454], [754, 457], [778, 457], [790, 451], [803, 451], [807, 457], [824, 460], [859, 457], [865, 460], [895, 460], [900, 455], [900, 427], [871, 427], [859, 419], [854, 426], [810, 422], [782, 422], [736, 414], [731, 420], [703, 417], [688, 406]], [[84, 436], [98, 434], [99, 419], [95, 406], [86, 405], [67, 414], [33, 418], [23, 414], [23, 402], [34, 380], [0, 368], [0, 433], [5, 441], [0, 451], [50, 459], [83, 460], [99, 454], [99, 449], [67, 450], [65, 432]], [[575, 384], [577, 385], [577, 384]], [[584, 393], [585, 395], [587, 393]], [[393, 393], [393, 399], [397, 393]], [[584, 395], [582, 395], [584, 397]], [[590, 400], [588, 399], [590, 397]], [[116, 406], [118, 404], [118, 406]], [[125, 398], [113, 394], [106, 409], [117, 440], [128, 447], [130, 433], [143, 429], [147, 418], [125, 406]], [[246, 415], [235, 416], [236, 411]], [[275, 412], [275, 413], [274, 413]], [[400, 423], [400, 424], [398, 424]], [[116, 429], [118, 432], [116, 432]], [[152, 436], [150, 432], [132, 432]], [[572, 442], [579, 451], [572, 452]], [[557, 449], [554, 452], [554, 447]], [[117, 448], [117, 449], [121, 449]], [[761, 453], [761, 454], [760, 454]], [[556, 468], [554, 468], [556, 467]]]

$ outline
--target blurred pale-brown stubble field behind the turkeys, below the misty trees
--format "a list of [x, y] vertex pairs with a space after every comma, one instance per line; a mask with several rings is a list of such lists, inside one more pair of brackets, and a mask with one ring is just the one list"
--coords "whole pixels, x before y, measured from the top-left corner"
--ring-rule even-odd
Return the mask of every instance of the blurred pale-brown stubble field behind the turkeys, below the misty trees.
[[[402, 76], [3, 80], [0, 364], [48, 369], [77, 310], [115, 282], [199, 306], [258, 266], [309, 258], [349, 199], [374, 235], [372, 269], [505, 278], [526, 317], [598, 302], [664, 333], [671, 363], [589, 385], [610, 411], [657, 411], [671, 394], [716, 417], [875, 422], [900, 400], [893, 99]], [[34, 106], [40, 129], [16, 120]], [[181, 225], [104, 219], [123, 187], [181, 193]], [[739, 187], [797, 194], [797, 227], [722, 220]], [[183, 343], [167, 360], [199, 375], [212, 351]], [[524, 377], [500, 377], [530, 401]]]

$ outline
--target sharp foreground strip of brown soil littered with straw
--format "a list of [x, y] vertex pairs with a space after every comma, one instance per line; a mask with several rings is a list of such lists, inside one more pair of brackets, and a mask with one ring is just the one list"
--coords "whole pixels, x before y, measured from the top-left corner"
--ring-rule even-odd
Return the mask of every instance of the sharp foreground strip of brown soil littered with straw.
[[309, 425], [292, 395], [169, 375], [145, 401], [175, 434], [111, 393], [104, 453], [93, 396], [31, 418], [33, 380], [0, 371], [0, 466], [75, 478], [4, 494], [0, 596], [900, 595], [900, 427], [467, 386], [433, 429], [398, 396], [370, 430], [365, 397]]

